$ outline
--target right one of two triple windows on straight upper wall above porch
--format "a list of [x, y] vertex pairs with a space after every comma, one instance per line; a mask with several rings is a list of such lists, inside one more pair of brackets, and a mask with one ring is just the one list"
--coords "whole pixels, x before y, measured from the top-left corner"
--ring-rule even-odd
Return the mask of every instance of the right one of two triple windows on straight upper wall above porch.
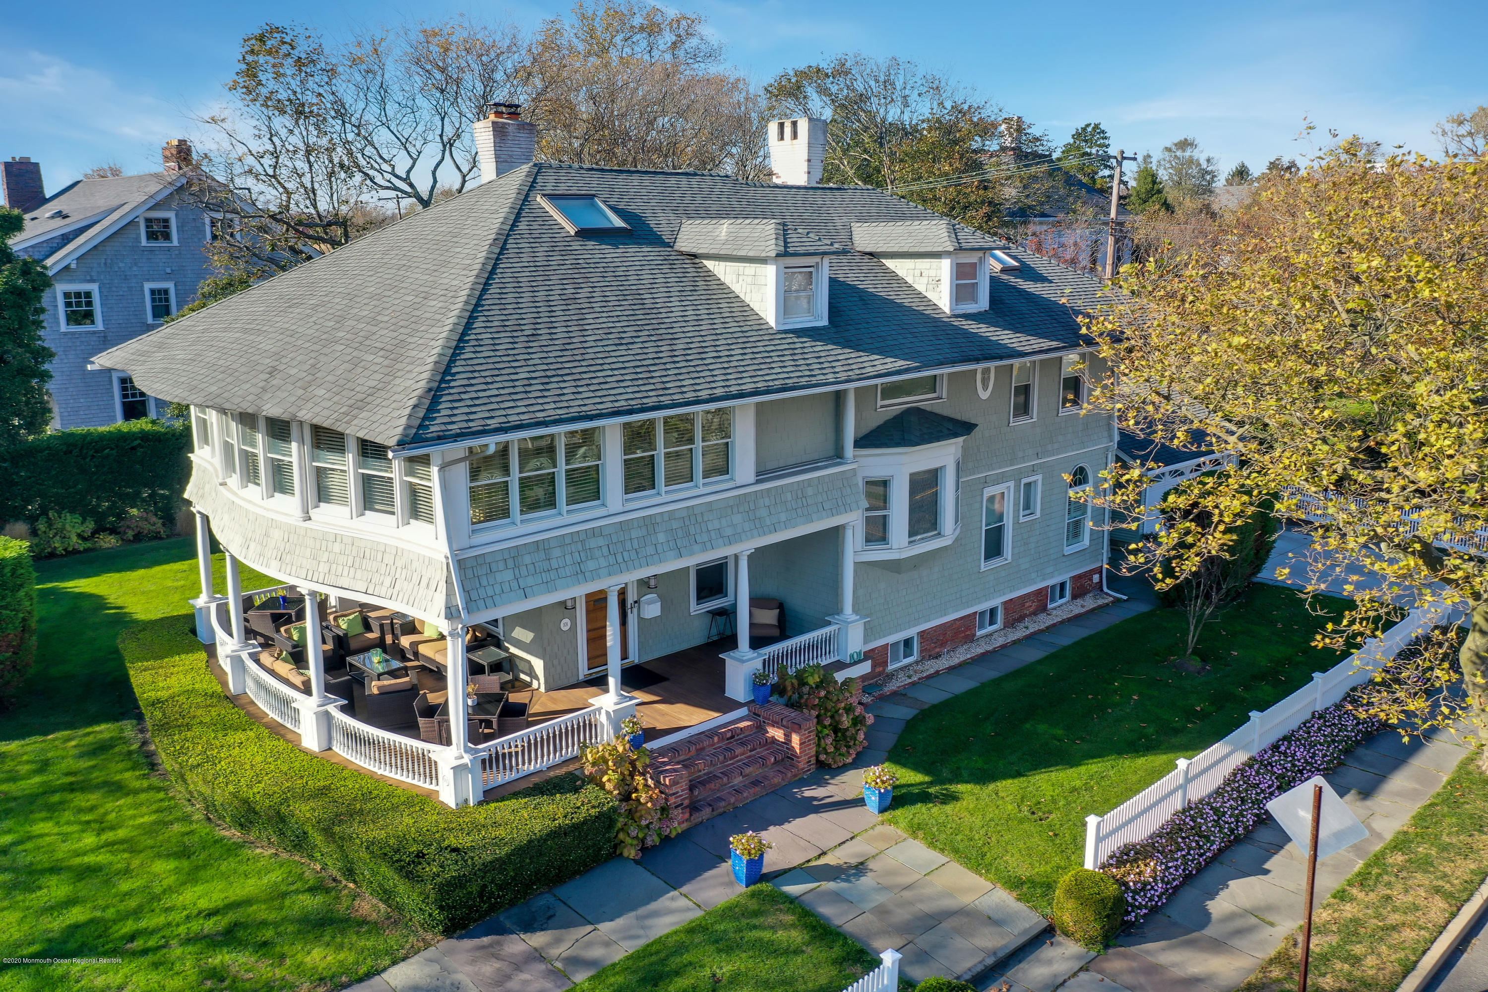
[[734, 473], [734, 409], [668, 413], [620, 425], [626, 497], [722, 482]]

